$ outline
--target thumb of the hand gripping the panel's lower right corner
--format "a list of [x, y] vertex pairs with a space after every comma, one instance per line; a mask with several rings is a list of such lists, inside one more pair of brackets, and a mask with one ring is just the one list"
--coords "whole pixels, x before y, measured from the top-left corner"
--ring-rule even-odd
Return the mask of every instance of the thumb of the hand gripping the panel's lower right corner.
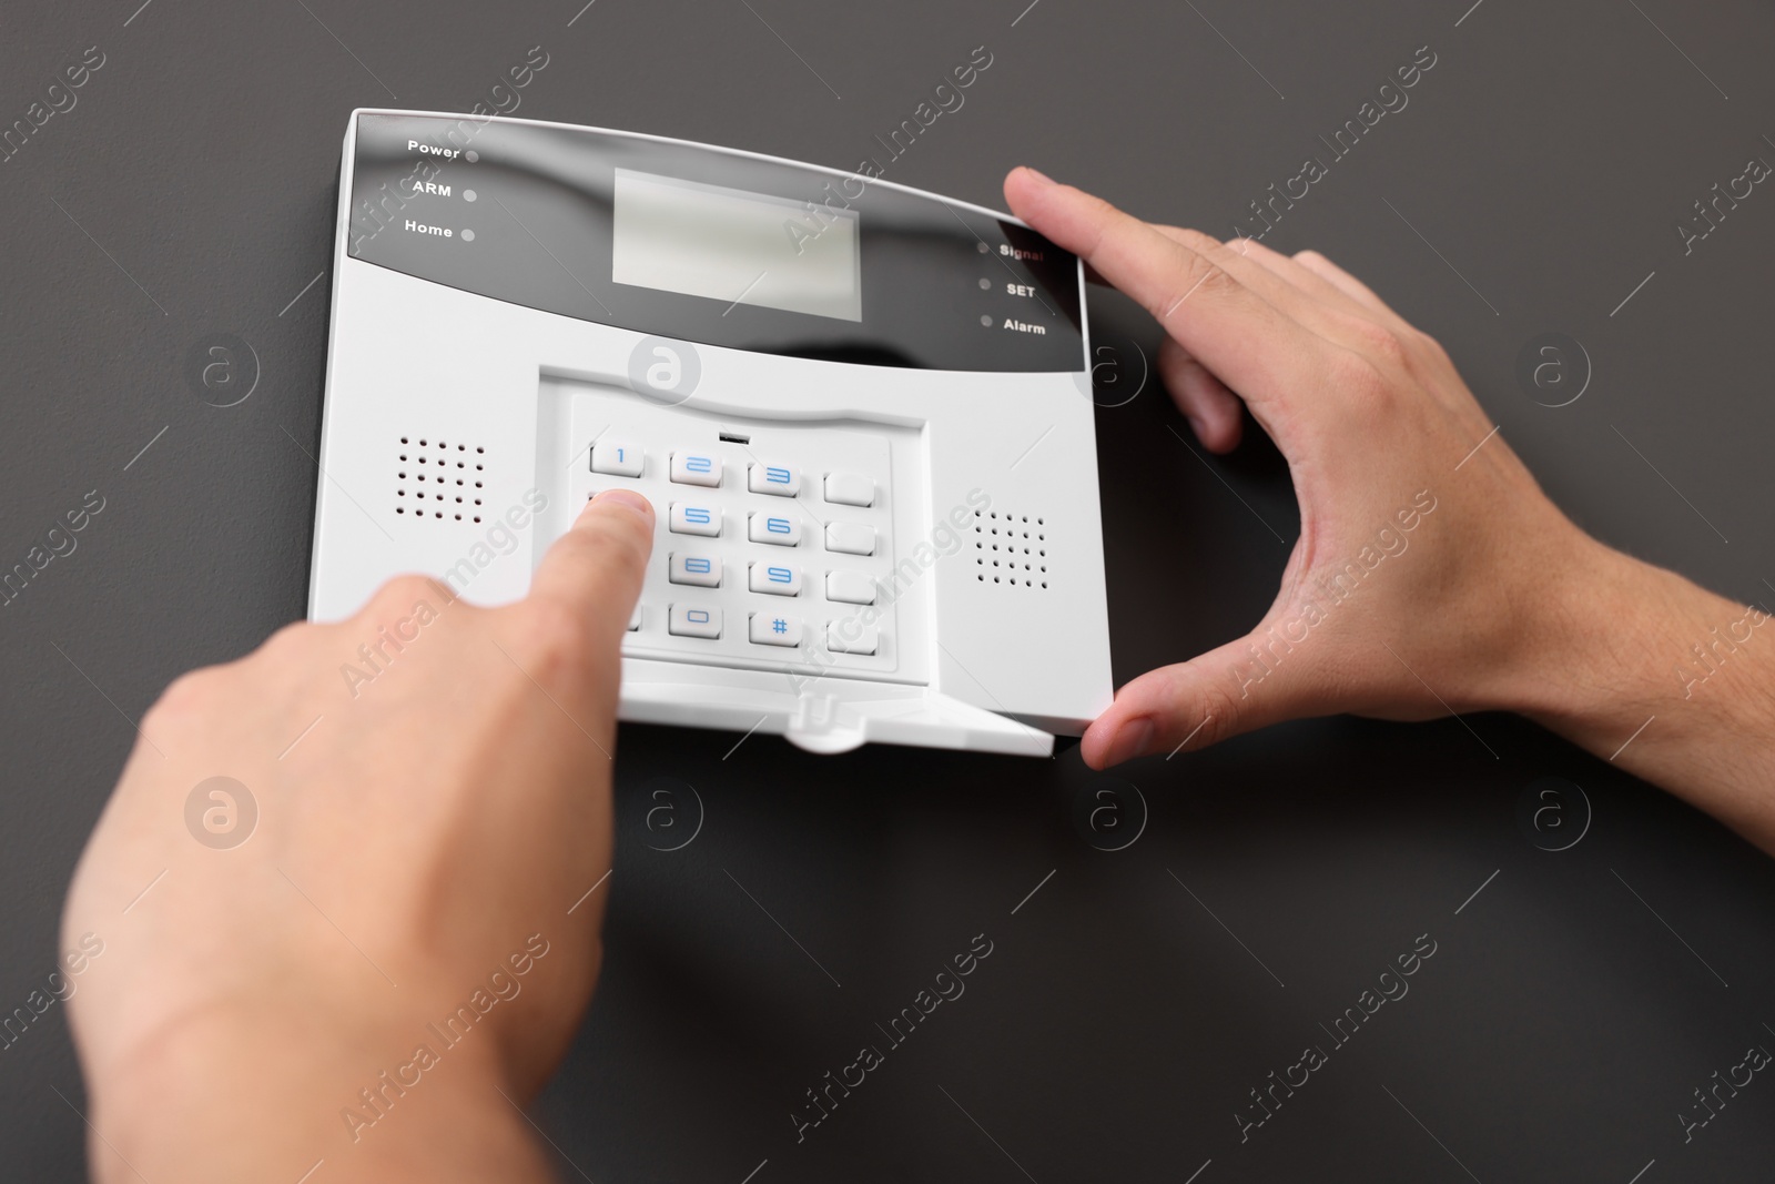
[[1081, 751], [1092, 769], [1136, 756], [1196, 751], [1244, 731], [1322, 714], [1298, 646], [1258, 625], [1237, 641], [1177, 666], [1161, 666], [1122, 687], [1115, 703], [1085, 730]]

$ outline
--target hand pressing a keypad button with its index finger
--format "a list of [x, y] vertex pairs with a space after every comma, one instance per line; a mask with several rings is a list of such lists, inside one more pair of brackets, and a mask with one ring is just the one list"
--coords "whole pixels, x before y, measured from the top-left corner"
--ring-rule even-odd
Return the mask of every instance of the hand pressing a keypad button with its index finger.
[[518, 604], [396, 579], [167, 689], [62, 925], [103, 943], [71, 999], [99, 1179], [547, 1177], [517, 1108], [598, 971], [651, 538], [605, 493]]

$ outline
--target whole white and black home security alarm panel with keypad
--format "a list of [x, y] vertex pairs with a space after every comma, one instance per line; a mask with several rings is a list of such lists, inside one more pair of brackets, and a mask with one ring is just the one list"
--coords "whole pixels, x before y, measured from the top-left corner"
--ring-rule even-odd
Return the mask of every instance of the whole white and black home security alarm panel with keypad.
[[657, 511], [619, 717], [1047, 754], [1111, 699], [1083, 268], [1015, 218], [650, 135], [359, 110], [309, 616], [525, 593]]

